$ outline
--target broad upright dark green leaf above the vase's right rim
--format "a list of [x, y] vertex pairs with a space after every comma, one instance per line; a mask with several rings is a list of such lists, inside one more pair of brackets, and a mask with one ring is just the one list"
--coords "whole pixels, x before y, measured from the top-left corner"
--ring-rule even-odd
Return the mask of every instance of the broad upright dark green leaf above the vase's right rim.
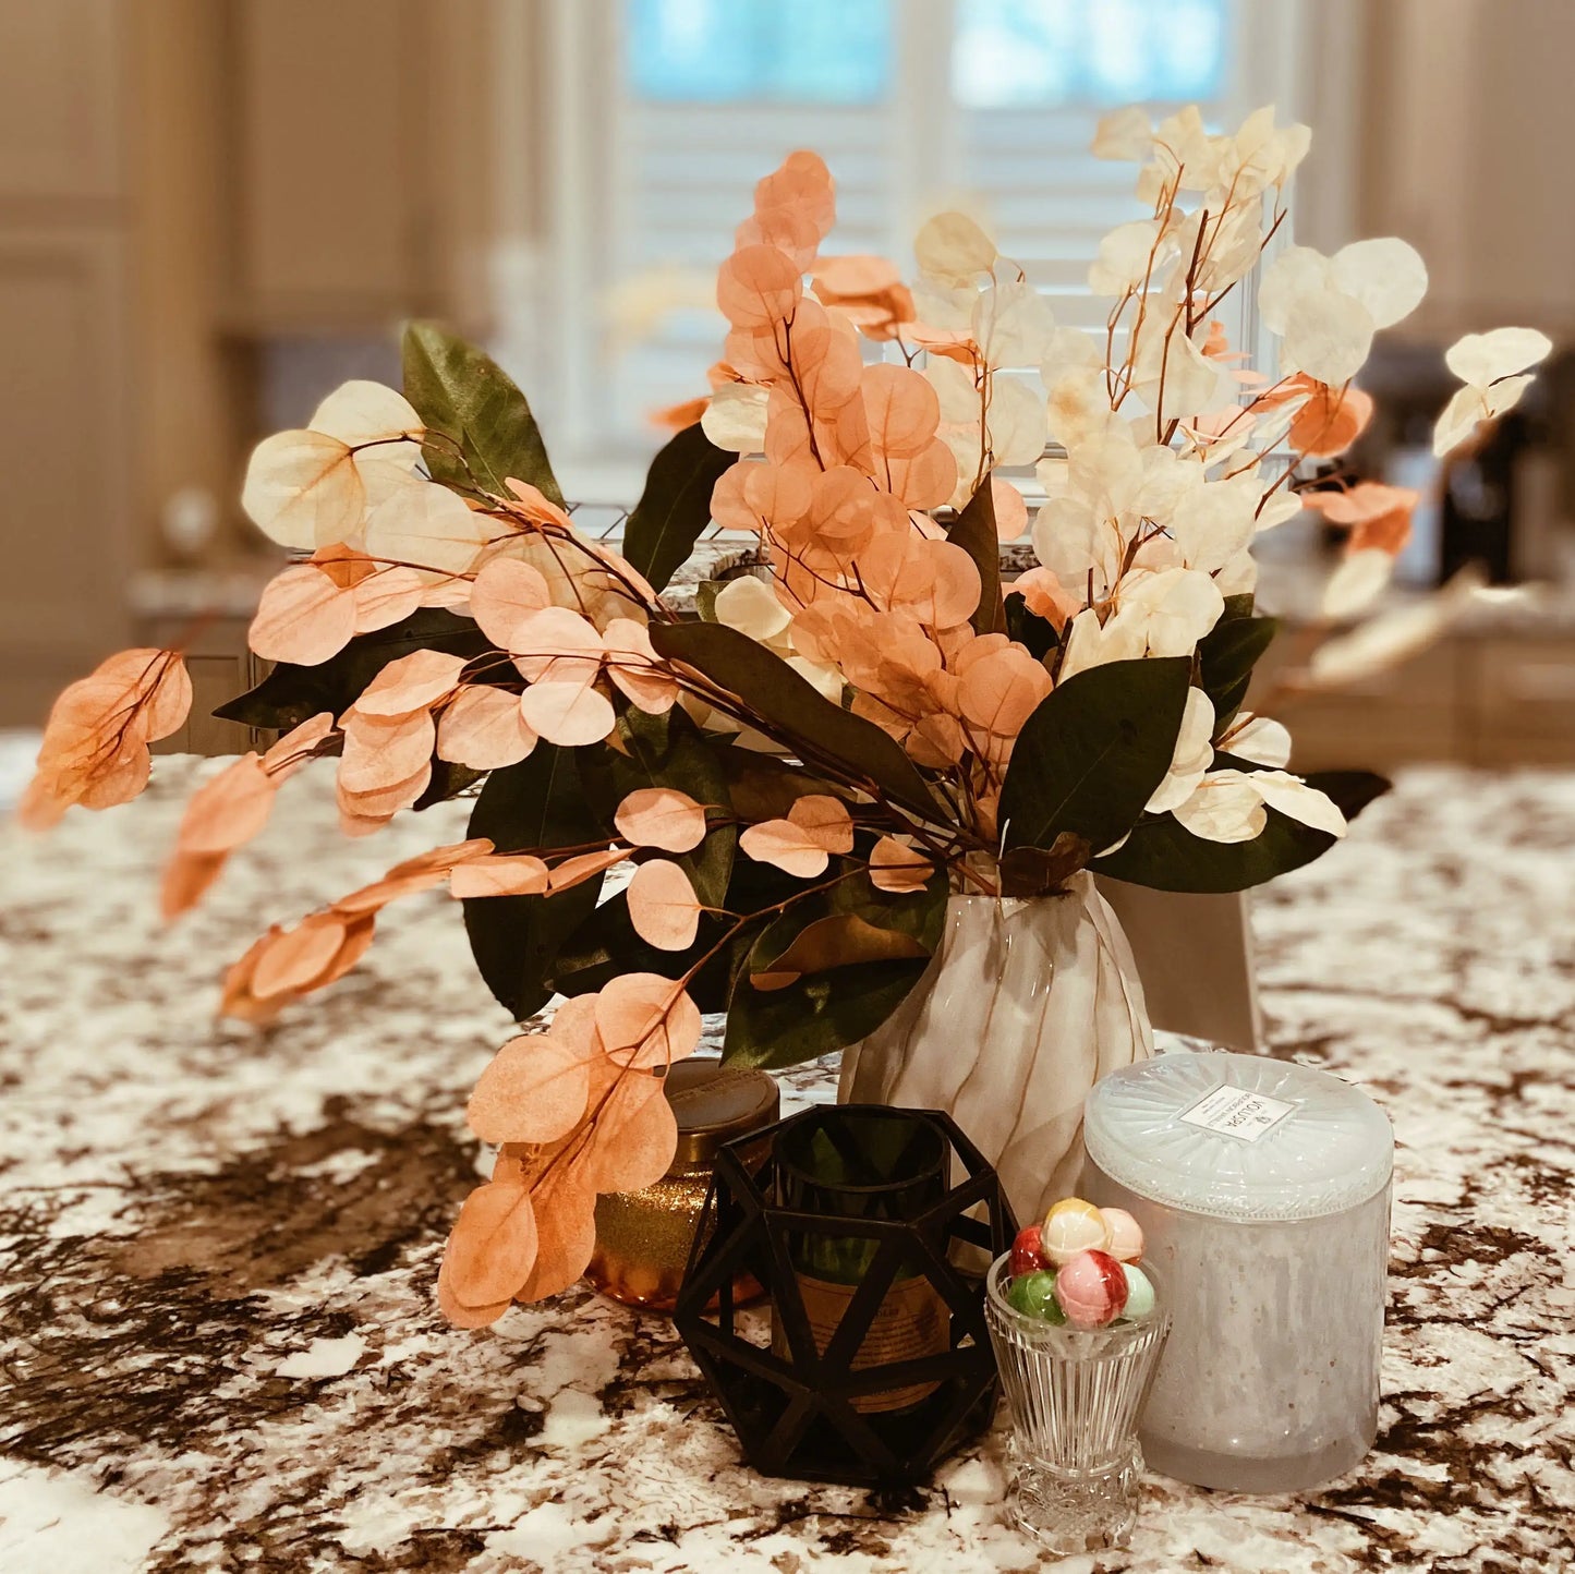
[[1107, 662], [1058, 684], [1024, 723], [1000, 794], [1006, 848], [1060, 835], [1107, 848], [1170, 769], [1192, 660]]

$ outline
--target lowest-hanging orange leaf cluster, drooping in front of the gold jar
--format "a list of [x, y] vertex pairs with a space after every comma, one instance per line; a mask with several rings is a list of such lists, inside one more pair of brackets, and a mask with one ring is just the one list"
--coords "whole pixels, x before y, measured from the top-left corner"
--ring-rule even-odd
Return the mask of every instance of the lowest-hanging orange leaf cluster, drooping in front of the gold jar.
[[682, 982], [628, 974], [498, 1051], [468, 1119], [501, 1149], [449, 1235], [438, 1275], [449, 1322], [485, 1327], [584, 1273], [597, 1194], [654, 1185], [673, 1163], [677, 1123], [655, 1073], [693, 1054], [699, 1034]]

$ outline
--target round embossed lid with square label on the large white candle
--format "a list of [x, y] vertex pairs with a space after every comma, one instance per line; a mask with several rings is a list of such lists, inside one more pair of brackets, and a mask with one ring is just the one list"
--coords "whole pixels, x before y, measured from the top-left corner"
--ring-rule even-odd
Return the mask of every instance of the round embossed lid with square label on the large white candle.
[[1252, 1054], [1162, 1054], [1112, 1071], [1084, 1104], [1084, 1145], [1151, 1202], [1243, 1221], [1340, 1213], [1394, 1168], [1389, 1117], [1359, 1087]]

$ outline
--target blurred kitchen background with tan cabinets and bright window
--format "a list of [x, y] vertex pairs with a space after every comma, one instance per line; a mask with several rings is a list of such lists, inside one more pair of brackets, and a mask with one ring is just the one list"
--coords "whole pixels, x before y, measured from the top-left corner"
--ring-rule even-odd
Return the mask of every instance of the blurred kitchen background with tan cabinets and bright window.
[[[247, 747], [200, 714], [246, 685], [276, 566], [246, 454], [346, 377], [397, 384], [408, 317], [485, 339], [565, 493], [616, 520], [650, 411], [706, 391], [715, 265], [794, 147], [839, 183], [825, 251], [909, 266], [967, 205], [1093, 325], [1087, 263], [1139, 211], [1134, 167], [1085, 150], [1147, 99], [1219, 124], [1276, 102], [1314, 126], [1296, 239], [1421, 249], [1429, 301], [1364, 375], [1364, 465], [1430, 499], [1394, 596], [1471, 561], [1534, 586], [1280, 703], [1295, 763], [1572, 763], [1570, 60], [1569, 0], [0, 0], [0, 728], [200, 619], [172, 742]], [[1440, 474], [1441, 350], [1503, 323], [1561, 353]], [[1230, 326], [1251, 343], [1251, 314]], [[1273, 537], [1282, 662], [1331, 550], [1312, 515]], [[6, 736], [14, 777], [33, 745]]]

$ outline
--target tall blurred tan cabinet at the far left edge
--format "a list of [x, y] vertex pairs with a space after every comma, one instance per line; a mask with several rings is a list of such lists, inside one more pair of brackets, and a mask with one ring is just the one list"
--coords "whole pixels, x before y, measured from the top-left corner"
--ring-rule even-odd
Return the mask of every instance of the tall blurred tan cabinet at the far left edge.
[[0, 0], [0, 725], [126, 643], [121, 19]]

